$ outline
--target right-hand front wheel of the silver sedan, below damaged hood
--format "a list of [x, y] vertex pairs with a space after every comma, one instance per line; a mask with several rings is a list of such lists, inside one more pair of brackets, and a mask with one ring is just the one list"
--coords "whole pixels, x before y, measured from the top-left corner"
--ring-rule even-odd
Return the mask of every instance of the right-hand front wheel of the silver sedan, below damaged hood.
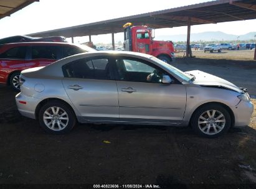
[[191, 126], [197, 134], [203, 137], [218, 137], [229, 130], [230, 114], [220, 104], [206, 104], [193, 114]]

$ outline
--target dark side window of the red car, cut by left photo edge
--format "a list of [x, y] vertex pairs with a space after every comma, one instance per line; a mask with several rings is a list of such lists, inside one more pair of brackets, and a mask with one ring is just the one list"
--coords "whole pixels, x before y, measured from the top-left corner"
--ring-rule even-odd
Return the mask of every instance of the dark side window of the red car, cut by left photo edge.
[[0, 58], [25, 59], [27, 47], [14, 47], [1, 53]]

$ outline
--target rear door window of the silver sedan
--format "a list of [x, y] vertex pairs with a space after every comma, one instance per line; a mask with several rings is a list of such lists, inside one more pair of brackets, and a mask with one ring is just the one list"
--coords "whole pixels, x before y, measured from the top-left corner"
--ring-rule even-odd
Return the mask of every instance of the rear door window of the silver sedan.
[[62, 70], [67, 78], [110, 80], [108, 58], [82, 58], [64, 65]]

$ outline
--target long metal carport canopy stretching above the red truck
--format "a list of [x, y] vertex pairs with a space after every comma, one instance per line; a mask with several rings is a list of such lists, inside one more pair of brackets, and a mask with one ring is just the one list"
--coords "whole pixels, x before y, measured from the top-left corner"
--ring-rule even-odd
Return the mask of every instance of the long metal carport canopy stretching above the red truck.
[[78, 37], [113, 34], [123, 32], [122, 25], [126, 22], [132, 22], [133, 25], [148, 25], [149, 27], [159, 29], [186, 26], [189, 20], [191, 25], [199, 25], [249, 19], [256, 19], [256, 0], [220, 0], [27, 35], [32, 37], [47, 37], [50, 35]]

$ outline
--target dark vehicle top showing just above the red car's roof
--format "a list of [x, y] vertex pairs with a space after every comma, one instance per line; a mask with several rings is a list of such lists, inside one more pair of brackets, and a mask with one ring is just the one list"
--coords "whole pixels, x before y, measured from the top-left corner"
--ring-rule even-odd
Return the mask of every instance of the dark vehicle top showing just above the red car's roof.
[[11, 44], [17, 42], [67, 42], [63, 36], [30, 37], [27, 35], [16, 35], [0, 39], [0, 44]]

